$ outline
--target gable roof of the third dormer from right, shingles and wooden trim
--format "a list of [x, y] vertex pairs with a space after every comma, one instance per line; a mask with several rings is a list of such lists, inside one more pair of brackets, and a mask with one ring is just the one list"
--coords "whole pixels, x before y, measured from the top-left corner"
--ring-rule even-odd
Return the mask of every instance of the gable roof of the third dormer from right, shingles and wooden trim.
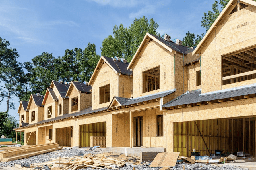
[[100, 67], [102, 66], [102, 64], [107, 63], [108, 66], [117, 74], [117, 75], [132, 75], [132, 71], [130, 69], [127, 70], [127, 67], [129, 65], [129, 63], [123, 63], [123, 62], [119, 62], [119, 61], [114, 61], [112, 58], [110, 57], [106, 57], [106, 56], [101, 56], [100, 60], [98, 61], [98, 64], [90, 78], [90, 81], [88, 83], [88, 85], [92, 85], [94, 79], [96, 78], [97, 72], [100, 69]]

